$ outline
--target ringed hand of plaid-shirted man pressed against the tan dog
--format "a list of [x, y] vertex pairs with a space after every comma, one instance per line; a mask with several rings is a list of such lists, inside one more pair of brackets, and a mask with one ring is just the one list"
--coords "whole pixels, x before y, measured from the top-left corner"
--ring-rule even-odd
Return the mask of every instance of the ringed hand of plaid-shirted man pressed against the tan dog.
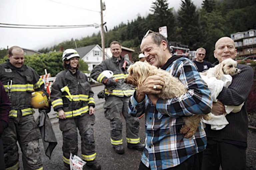
[[156, 94], [161, 92], [163, 86], [164, 79], [162, 77], [157, 75], [149, 76], [142, 85], [138, 85], [135, 96], [136, 101], [141, 102], [145, 98], [145, 94], [147, 94], [151, 102], [156, 104], [158, 99]]

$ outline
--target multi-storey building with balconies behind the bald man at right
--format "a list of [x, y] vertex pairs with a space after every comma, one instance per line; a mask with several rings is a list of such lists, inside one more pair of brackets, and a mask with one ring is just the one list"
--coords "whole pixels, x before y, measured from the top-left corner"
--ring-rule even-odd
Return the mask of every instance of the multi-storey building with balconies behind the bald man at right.
[[239, 57], [256, 55], [256, 30], [237, 32], [231, 34], [230, 37], [235, 42]]

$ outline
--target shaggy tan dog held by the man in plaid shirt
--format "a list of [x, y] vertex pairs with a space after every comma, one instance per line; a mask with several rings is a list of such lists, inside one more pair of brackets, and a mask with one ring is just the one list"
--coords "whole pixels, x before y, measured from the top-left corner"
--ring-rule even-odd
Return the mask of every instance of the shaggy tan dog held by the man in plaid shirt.
[[[164, 78], [164, 86], [161, 93], [157, 94], [160, 99], [172, 99], [184, 95], [187, 92], [185, 85], [177, 77], [173, 77], [169, 72], [157, 68], [145, 62], [136, 62], [128, 68], [128, 76], [125, 78], [125, 82], [137, 87], [142, 85], [143, 81], [151, 75], [158, 75]], [[207, 115], [193, 115], [189, 117], [183, 117], [185, 124], [180, 129], [180, 133], [185, 134], [185, 138], [192, 137], [201, 121], [201, 118], [209, 120]]]

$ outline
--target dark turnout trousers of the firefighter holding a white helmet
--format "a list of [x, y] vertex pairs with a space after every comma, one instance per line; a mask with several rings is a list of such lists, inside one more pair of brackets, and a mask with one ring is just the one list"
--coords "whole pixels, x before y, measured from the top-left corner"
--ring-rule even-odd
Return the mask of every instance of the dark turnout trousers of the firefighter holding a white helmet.
[[130, 97], [107, 96], [104, 104], [105, 117], [110, 120], [111, 144], [119, 145], [122, 140], [122, 119], [126, 121], [126, 139], [127, 143], [139, 143], [139, 119], [128, 114], [128, 104]]

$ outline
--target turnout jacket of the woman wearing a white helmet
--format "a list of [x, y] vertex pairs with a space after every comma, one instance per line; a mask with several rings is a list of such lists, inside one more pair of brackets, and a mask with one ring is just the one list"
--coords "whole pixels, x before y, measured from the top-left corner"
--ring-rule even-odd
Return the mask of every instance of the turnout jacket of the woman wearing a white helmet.
[[64, 70], [56, 75], [50, 101], [54, 111], [64, 110], [68, 119], [88, 113], [90, 106], [95, 107], [93, 95], [84, 73], [77, 70], [72, 74], [69, 70]]

